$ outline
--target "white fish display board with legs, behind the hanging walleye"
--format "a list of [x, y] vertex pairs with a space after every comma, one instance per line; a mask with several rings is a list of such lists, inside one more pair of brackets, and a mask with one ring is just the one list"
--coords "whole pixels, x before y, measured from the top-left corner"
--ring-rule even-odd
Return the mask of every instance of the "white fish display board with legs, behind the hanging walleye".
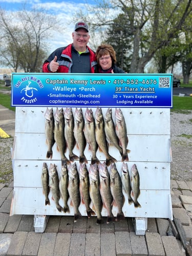
[[[73, 114], [75, 108], [72, 108]], [[92, 108], [95, 115], [96, 108]], [[102, 108], [103, 115], [107, 108]], [[53, 108], [56, 111], [56, 107]], [[86, 107], [82, 108], [83, 115]], [[42, 193], [41, 171], [44, 162], [50, 166], [55, 163], [58, 175], [61, 174], [61, 159], [56, 144], [53, 145], [53, 158], [47, 159], [45, 135], [46, 107], [17, 106], [15, 116], [15, 139], [12, 152], [14, 172], [14, 193], [10, 215], [34, 215], [36, 232], [43, 232], [46, 219], [51, 215], [74, 215], [74, 208], [70, 212], [59, 212], [52, 200], [50, 192], [50, 205], [45, 205], [45, 195]], [[147, 228], [147, 218], [173, 219], [172, 202], [170, 198], [170, 162], [172, 161], [170, 149], [170, 110], [166, 108], [122, 108], [126, 122], [129, 143], [127, 148], [129, 161], [127, 165], [131, 175], [133, 164], [137, 165], [140, 176], [140, 195], [138, 201], [140, 208], [128, 203], [127, 194], [122, 189], [125, 202], [123, 213], [125, 217], [135, 219], [136, 234], [142, 234]], [[115, 108], [112, 108], [113, 118]], [[78, 155], [75, 146], [74, 154]], [[109, 146], [109, 153], [117, 159], [117, 170], [122, 175], [122, 161], [119, 151], [114, 146]], [[66, 151], [68, 157], [69, 150]], [[91, 163], [91, 151], [87, 144], [84, 151]], [[97, 151], [100, 162], [106, 160], [105, 155]], [[75, 161], [79, 170], [79, 161]], [[70, 199], [69, 199], [70, 200]], [[59, 200], [62, 205], [62, 198]], [[91, 203], [92, 206], [92, 203]], [[79, 211], [82, 216], [87, 216], [86, 207], [81, 203]], [[117, 207], [113, 206], [113, 214], [117, 215]], [[107, 216], [102, 208], [102, 216]], [[80, 221], [80, 219], [78, 220]]]

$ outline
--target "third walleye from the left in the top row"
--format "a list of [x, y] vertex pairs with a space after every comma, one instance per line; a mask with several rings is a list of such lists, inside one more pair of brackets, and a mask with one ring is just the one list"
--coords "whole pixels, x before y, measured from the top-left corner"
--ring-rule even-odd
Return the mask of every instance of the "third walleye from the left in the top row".
[[73, 162], [75, 160], [79, 160], [79, 157], [73, 153], [73, 148], [76, 142], [73, 134], [74, 118], [73, 118], [72, 108], [66, 108], [64, 112], [64, 118], [65, 118], [64, 131], [65, 131], [66, 144], [67, 144], [67, 147], [69, 148], [69, 160]]

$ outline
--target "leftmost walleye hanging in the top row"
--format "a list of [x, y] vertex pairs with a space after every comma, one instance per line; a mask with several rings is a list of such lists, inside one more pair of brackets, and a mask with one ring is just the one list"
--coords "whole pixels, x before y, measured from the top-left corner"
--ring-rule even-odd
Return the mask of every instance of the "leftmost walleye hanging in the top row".
[[46, 118], [46, 127], [45, 127], [45, 134], [46, 134], [46, 144], [48, 144], [48, 151], [47, 151], [47, 158], [52, 159], [53, 151], [52, 147], [55, 143], [54, 139], [54, 116], [53, 116], [53, 108], [46, 110], [45, 113]]

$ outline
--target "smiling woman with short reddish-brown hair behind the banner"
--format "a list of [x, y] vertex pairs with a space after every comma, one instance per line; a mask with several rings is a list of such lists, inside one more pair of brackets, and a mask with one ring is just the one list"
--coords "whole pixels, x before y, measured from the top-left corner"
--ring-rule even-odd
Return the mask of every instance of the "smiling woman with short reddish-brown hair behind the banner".
[[115, 65], [116, 54], [111, 45], [99, 46], [95, 55], [98, 63], [97, 73], [126, 73]]

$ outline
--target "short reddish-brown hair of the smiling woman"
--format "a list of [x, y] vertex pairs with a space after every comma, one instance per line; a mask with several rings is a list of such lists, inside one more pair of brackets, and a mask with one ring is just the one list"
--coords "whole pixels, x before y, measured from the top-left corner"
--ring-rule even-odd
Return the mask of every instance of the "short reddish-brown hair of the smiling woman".
[[113, 47], [111, 45], [106, 45], [106, 44], [98, 46], [96, 53], [95, 53], [97, 63], [99, 64], [99, 58], [101, 58], [103, 55], [108, 55], [108, 54], [110, 54], [112, 63], [115, 64], [116, 63], [116, 54], [115, 54], [115, 50], [113, 49]]

